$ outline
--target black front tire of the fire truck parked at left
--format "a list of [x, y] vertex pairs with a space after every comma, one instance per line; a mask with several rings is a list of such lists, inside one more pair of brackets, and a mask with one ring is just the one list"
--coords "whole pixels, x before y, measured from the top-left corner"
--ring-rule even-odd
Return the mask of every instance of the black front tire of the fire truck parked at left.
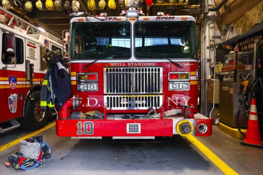
[[43, 116], [40, 108], [40, 91], [35, 91], [33, 95], [34, 100], [27, 99], [24, 111], [25, 116], [19, 120], [20, 126], [23, 129], [40, 129], [47, 123], [49, 116], [51, 116], [49, 107], [47, 107], [45, 116]]

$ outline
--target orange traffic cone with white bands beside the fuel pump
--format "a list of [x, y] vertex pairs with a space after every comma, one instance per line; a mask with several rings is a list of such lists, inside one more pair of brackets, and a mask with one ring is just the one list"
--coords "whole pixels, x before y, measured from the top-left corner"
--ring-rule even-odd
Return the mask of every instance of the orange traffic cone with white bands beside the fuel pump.
[[242, 145], [253, 146], [257, 148], [263, 148], [263, 144], [260, 140], [260, 131], [257, 119], [257, 108], [256, 100], [251, 100], [249, 119], [248, 119], [248, 130], [245, 140], [241, 142]]

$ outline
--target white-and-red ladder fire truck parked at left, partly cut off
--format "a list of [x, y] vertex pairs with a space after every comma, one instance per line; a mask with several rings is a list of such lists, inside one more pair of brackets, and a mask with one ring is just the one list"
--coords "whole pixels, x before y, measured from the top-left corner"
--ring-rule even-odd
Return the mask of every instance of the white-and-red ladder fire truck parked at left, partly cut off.
[[38, 129], [45, 125], [50, 110], [40, 109], [41, 82], [49, 50], [62, 52], [62, 40], [0, 7], [0, 133], [17, 127]]

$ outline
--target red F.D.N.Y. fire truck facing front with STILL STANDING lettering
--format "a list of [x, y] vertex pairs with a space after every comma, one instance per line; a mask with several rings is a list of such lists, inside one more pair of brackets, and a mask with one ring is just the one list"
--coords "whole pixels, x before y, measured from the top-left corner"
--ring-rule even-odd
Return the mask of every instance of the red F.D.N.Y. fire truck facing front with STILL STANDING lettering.
[[[119, 17], [83, 15], [70, 21], [73, 96], [58, 112], [58, 136], [212, 134], [212, 120], [197, 113], [194, 17], [144, 16], [133, 8]], [[103, 117], [81, 117], [90, 111]]]

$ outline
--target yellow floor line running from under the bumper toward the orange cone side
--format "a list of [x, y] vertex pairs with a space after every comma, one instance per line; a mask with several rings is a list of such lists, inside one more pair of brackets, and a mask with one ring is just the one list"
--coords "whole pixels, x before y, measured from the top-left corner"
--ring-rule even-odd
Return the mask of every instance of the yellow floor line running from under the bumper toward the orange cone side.
[[223, 162], [218, 156], [216, 156], [212, 151], [210, 151], [204, 144], [197, 140], [194, 136], [188, 135], [186, 138], [194, 144], [208, 159], [210, 159], [219, 169], [225, 174], [238, 174], [231, 167], [229, 167], [225, 162]]

